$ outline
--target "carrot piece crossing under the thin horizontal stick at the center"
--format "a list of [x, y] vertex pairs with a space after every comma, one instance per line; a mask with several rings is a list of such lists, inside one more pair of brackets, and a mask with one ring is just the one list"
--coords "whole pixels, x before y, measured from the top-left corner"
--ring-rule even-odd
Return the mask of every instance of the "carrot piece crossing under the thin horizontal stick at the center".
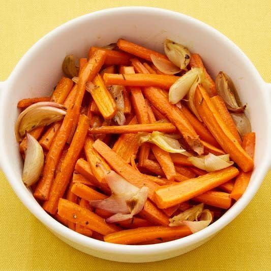
[[[129, 125], [137, 124], [136, 117], [133, 117]], [[122, 134], [118, 137], [112, 149], [117, 155], [121, 156], [127, 163], [137, 154], [139, 145], [136, 134]]]

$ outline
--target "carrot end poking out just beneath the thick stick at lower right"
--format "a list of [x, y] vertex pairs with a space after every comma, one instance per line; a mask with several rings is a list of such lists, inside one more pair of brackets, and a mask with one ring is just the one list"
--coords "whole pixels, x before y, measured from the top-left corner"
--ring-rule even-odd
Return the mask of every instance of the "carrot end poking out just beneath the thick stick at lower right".
[[228, 209], [231, 206], [231, 198], [229, 194], [220, 191], [207, 191], [199, 196], [193, 198], [194, 201], [202, 202], [211, 206]]

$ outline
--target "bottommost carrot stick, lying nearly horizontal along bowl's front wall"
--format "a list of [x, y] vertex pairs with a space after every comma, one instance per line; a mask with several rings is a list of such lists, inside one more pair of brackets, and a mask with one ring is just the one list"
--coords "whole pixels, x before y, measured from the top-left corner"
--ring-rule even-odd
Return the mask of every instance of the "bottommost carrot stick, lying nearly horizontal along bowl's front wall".
[[121, 230], [104, 236], [105, 242], [114, 244], [137, 244], [146, 242], [155, 238], [163, 237], [185, 237], [192, 232], [187, 226], [178, 227], [142, 227], [137, 229]]

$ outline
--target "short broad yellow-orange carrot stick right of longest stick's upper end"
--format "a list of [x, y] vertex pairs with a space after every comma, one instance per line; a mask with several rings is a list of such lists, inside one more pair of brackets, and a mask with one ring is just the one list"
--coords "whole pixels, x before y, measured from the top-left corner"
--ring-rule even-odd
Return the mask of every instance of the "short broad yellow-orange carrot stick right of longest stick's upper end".
[[93, 83], [95, 84], [95, 87], [94, 89], [91, 89], [91, 95], [99, 108], [99, 111], [105, 119], [113, 117], [117, 110], [116, 103], [104, 85], [100, 74], [94, 78]]

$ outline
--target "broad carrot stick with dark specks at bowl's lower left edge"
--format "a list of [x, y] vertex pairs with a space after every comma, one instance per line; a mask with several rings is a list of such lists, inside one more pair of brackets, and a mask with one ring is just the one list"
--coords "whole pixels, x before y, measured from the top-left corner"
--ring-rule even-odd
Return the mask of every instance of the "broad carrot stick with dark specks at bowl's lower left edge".
[[103, 235], [119, 230], [117, 226], [107, 224], [103, 218], [67, 199], [59, 200], [58, 214], [70, 222], [82, 225]]

